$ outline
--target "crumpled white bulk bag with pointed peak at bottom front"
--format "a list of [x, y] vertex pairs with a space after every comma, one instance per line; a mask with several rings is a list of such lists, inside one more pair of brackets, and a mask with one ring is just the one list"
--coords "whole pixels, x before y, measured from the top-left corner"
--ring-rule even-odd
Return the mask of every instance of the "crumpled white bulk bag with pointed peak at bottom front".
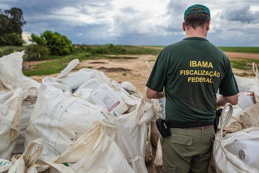
[[[37, 147], [36, 150], [33, 149], [34, 146]], [[105, 127], [99, 121], [94, 122], [92, 129], [79, 137], [60, 156], [43, 161], [39, 159], [42, 150], [42, 138], [31, 142], [23, 155], [14, 155], [14, 165], [9, 171], [23, 173], [27, 167], [28, 173], [44, 171], [47, 168], [52, 173], [134, 172], [120, 148], [105, 133]], [[35, 152], [31, 154], [32, 151]]]

